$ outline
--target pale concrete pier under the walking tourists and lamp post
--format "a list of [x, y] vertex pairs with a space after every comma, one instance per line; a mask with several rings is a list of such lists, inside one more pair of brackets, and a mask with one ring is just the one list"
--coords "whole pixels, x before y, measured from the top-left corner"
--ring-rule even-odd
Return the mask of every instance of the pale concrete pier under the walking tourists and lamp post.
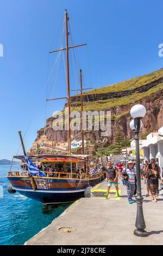
[[136, 200], [129, 204], [126, 186], [118, 180], [121, 198], [105, 199], [106, 180], [92, 188], [91, 198], [81, 198], [67, 208], [47, 228], [28, 240], [26, 245], [162, 245], [163, 196], [158, 202], [145, 197], [142, 181], [143, 214], [148, 237], [134, 235]]

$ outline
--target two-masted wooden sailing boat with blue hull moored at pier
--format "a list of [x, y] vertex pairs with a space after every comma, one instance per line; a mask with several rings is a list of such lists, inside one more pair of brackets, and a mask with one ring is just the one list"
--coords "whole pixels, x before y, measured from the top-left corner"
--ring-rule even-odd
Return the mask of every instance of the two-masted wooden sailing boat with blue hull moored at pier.
[[[68, 26], [67, 11], [65, 10], [65, 27], [66, 27], [66, 47], [57, 51], [66, 50], [66, 70], [67, 70], [67, 99], [68, 106], [68, 154], [67, 155], [30, 155], [31, 161], [39, 161], [43, 166], [51, 165], [53, 172], [43, 172], [46, 176], [32, 176], [28, 171], [10, 170], [8, 179], [10, 181], [10, 192], [19, 192], [26, 197], [35, 199], [43, 204], [61, 204], [74, 202], [84, 196], [87, 187], [95, 186], [104, 179], [102, 171], [96, 174], [87, 174], [86, 168], [88, 160], [84, 157], [73, 156], [71, 154], [71, 130], [70, 130], [70, 77], [69, 77], [69, 58], [68, 51], [70, 48], [82, 46], [68, 46]], [[86, 45], [86, 44], [83, 44]], [[53, 51], [53, 52], [57, 52]], [[87, 88], [88, 89], [88, 88]], [[83, 111], [83, 87], [82, 87], [82, 70], [80, 69], [80, 97], [81, 111]], [[54, 99], [48, 99], [54, 100]], [[83, 124], [82, 124], [83, 125]], [[20, 132], [21, 137], [21, 132]], [[21, 137], [22, 147], [24, 149]], [[84, 132], [82, 127], [82, 154], [84, 154]], [[24, 160], [24, 156], [14, 156], [16, 159]], [[76, 169], [84, 169], [84, 176], [76, 172]], [[55, 171], [54, 171], [55, 170]]]

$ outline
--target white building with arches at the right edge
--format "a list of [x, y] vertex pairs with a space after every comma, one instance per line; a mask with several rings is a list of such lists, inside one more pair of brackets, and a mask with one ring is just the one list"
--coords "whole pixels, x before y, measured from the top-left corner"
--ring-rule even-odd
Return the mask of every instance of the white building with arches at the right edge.
[[151, 132], [146, 140], [143, 140], [142, 147], [145, 160], [158, 159], [159, 166], [163, 167], [163, 126], [158, 132]]

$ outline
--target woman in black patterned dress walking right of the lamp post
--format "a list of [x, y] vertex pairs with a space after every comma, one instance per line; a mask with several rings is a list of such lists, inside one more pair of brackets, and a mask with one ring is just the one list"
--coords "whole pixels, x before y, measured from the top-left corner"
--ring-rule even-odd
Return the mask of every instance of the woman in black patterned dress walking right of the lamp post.
[[152, 199], [154, 202], [157, 202], [156, 200], [156, 194], [158, 193], [159, 189], [159, 179], [161, 180], [161, 176], [158, 169], [155, 169], [155, 163], [149, 163], [148, 169], [146, 170], [146, 176], [145, 176], [145, 183], [146, 179], [148, 179], [148, 185], [152, 194]]

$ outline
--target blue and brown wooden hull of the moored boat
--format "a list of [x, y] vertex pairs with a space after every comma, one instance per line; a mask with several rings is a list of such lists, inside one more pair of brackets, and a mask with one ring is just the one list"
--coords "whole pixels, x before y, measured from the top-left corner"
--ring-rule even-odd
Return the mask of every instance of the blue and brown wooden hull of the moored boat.
[[88, 186], [95, 186], [104, 177], [96, 179], [57, 179], [57, 178], [36, 178], [36, 185], [33, 190], [29, 177], [8, 177], [12, 188], [23, 196], [37, 200], [43, 204], [61, 204], [74, 202], [84, 197], [84, 191]]

